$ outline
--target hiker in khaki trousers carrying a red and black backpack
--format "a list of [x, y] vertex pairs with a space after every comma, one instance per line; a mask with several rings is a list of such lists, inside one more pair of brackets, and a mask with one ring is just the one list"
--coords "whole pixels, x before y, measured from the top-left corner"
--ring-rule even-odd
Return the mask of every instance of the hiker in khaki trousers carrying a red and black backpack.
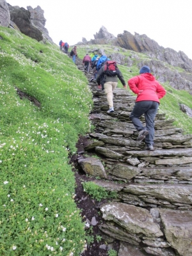
[[[108, 63], [110, 63], [110, 68], [108, 68]], [[113, 67], [112, 67], [113, 66]], [[104, 78], [104, 90], [107, 95], [109, 110], [107, 113], [114, 112], [113, 108], [113, 91], [116, 89], [118, 79], [120, 79], [124, 88], [127, 88], [124, 77], [118, 67], [116, 67], [115, 61], [107, 61], [105, 65], [103, 65], [99, 72], [97, 73], [97, 84], [98, 88], [101, 89], [101, 79]], [[117, 79], [118, 78], [118, 79]]]

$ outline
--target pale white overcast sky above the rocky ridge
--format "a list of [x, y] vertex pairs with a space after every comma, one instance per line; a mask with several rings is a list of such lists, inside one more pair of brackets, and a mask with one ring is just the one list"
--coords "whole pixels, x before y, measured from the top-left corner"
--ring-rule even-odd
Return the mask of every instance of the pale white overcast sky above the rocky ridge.
[[44, 10], [45, 28], [54, 43], [94, 39], [101, 26], [117, 36], [147, 35], [164, 48], [183, 51], [192, 60], [191, 0], [6, 0], [12, 6]]

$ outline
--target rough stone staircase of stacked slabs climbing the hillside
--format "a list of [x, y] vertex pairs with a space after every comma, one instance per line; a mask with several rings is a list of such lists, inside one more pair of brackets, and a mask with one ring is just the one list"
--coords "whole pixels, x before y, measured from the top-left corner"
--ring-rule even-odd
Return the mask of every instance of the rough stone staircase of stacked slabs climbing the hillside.
[[[84, 72], [82, 60], [77, 58], [76, 65]], [[92, 74], [84, 74], [90, 81]], [[95, 131], [88, 134], [90, 143], [84, 147], [90, 157], [79, 154], [79, 166], [101, 178], [95, 179], [97, 185], [117, 194], [100, 207], [106, 221], [100, 230], [121, 241], [118, 256], [191, 256], [192, 134], [184, 135], [173, 126], [174, 120], [157, 113], [155, 150], [144, 150], [129, 120], [136, 97], [129, 89], [117, 88], [115, 112], [108, 114], [104, 92], [95, 83], [88, 86]]]

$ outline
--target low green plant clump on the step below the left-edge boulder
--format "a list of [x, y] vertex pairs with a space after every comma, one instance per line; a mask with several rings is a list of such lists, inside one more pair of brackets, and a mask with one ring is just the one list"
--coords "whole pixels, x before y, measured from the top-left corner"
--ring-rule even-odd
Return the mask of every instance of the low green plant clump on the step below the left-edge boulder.
[[100, 202], [102, 199], [106, 198], [117, 198], [116, 191], [107, 191], [104, 188], [101, 188], [94, 182], [83, 182], [83, 188], [86, 193], [93, 196], [93, 198]]

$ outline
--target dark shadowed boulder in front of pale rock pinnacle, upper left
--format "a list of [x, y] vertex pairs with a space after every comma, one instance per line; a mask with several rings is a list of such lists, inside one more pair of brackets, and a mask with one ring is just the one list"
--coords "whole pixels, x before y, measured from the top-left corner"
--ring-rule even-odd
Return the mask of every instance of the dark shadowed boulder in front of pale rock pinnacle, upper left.
[[18, 8], [18, 6], [12, 6], [10, 8], [10, 19], [18, 26], [20, 31], [38, 42], [43, 40], [42, 32], [33, 26], [30, 20], [30, 12], [24, 8]]

